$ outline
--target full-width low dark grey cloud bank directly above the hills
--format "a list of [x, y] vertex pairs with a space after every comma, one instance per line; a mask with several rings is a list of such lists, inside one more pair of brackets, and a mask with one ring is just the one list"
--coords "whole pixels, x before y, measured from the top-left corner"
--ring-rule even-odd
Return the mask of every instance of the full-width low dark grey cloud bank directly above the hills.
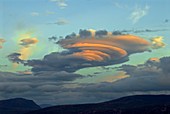
[[[54, 53], [55, 54], [55, 53]], [[116, 82], [73, 83], [81, 75], [65, 71], [41, 71], [18, 76], [0, 72], [0, 99], [24, 97], [36, 102], [71, 104], [101, 102], [135, 94], [169, 94], [170, 57], [151, 58], [139, 65], [123, 65], [118, 70], [129, 77]]]

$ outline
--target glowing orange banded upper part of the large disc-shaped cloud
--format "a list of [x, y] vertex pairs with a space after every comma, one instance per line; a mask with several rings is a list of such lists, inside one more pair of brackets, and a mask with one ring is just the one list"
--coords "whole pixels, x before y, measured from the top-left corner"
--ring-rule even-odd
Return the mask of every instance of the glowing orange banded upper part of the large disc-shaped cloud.
[[[90, 31], [91, 32], [91, 31]], [[65, 49], [79, 49], [73, 55], [89, 61], [119, 60], [132, 53], [148, 51], [151, 43], [134, 35], [112, 35], [91, 38], [68, 38], [59, 41]]]

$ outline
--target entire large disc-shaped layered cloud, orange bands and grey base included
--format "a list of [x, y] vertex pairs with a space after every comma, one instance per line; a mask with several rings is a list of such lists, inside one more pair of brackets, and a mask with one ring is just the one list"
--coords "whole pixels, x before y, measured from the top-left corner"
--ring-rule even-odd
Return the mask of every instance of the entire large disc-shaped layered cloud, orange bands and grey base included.
[[106, 30], [80, 30], [72, 33], [58, 44], [63, 51], [52, 52], [43, 59], [28, 60], [33, 72], [66, 71], [75, 72], [82, 68], [121, 64], [129, 60], [129, 55], [150, 52], [152, 44], [135, 35], [114, 35]]

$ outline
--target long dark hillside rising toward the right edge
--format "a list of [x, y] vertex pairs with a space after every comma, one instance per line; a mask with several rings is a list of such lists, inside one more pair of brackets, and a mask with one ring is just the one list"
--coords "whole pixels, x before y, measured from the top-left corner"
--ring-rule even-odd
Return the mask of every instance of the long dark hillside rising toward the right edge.
[[170, 114], [170, 95], [135, 95], [102, 103], [52, 106], [26, 114]]

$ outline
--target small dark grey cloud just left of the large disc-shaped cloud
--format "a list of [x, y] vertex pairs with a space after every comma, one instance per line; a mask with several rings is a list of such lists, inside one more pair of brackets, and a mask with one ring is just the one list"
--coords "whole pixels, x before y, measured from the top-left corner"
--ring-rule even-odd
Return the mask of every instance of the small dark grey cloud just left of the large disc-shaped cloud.
[[20, 59], [19, 57], [21, 56], [20, 53], [12, 53], [9, 54], [7, 57], [9, 59], [9, 61], [13, 62], [13, 63], [23, 63], [24, 60]]

